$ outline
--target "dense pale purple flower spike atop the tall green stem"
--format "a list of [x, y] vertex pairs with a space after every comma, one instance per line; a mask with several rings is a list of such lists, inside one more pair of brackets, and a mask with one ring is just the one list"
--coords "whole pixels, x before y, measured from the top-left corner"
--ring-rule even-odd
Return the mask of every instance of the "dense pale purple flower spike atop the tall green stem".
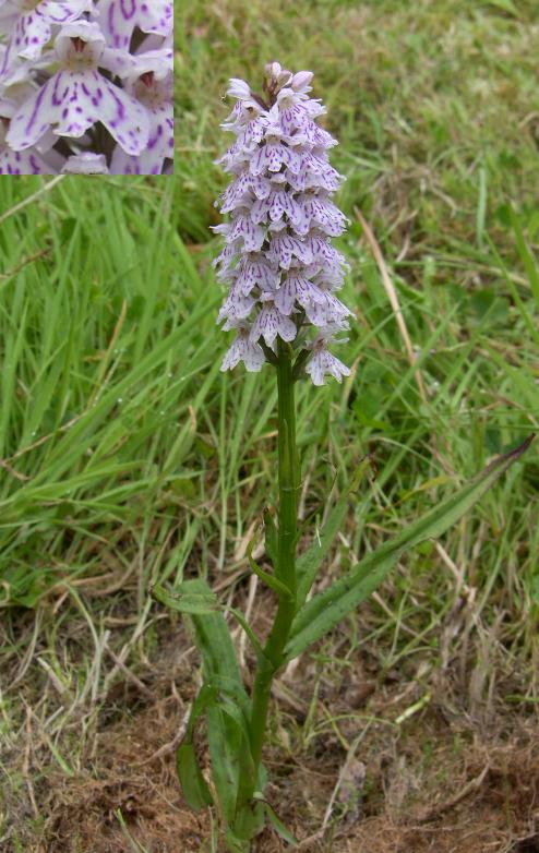
[[309, 97], [312, 76], [273, 62], [263, 97], [230, 81], [237, 101], [221, 127], [237, 140], [217, 160], [232, 181], [219, 200], [229, 221], [214, 227], [225, 237], [215, 266], [228, 286], [218, 322], [236, 331], [221, 369], [260, 371], [282, 338], [322, 385], [349, 375], [328, 346], [351, 312], [336, 296], [348, 265], [332, 245], [347, 223], [331, 200], [343, 180], [327, 157], [337, 143], [315, 122], [325, 108]]

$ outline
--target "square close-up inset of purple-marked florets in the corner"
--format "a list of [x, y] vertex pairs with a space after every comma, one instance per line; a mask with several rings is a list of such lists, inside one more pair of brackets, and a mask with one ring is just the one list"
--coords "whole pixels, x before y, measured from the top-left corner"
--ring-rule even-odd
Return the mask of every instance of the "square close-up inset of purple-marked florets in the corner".
[[0, 175], [172, 169], [172, 0], [0, 0]]

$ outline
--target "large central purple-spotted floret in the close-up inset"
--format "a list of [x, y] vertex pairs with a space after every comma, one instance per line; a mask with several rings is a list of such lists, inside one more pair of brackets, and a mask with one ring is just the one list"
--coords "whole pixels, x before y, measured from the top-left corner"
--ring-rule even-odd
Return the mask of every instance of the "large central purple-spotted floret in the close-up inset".
[[23, 151], [53, 127], [59, 136], [82, 136], [100, 121], [127, 154], [139, 155], [148, 141], [146, 110], [100, 72], [122, 73], [129, 59], [110, 52], [97, 24], [65, 25], [56, 39], [58, 71], [13, 116], [7, 142]]

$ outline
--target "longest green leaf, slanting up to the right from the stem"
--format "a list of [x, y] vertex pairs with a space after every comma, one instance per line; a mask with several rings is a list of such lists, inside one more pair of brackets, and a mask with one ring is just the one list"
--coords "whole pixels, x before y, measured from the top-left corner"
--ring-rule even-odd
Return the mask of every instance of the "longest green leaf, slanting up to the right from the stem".
[[528, 448], [534, 435], [513, 450], [499, 456], [470, 483], [434, 506], [422, 518], [362, 560], [349, 575], [314, 596], [297, 614], [285, 648], [284, 663], [297, 658], [312, 642], [332, 630], [383, 581], [390, 569], [410, 548], [433, 539], [452, 527], [490, 489], [498, 478]]

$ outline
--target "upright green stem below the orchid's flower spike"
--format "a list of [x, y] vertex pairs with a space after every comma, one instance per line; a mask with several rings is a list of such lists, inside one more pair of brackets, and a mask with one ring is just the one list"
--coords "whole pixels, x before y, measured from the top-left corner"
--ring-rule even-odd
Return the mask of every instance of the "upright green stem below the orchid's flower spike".
[[278, 561], [275, 574], [292, 592], [292, 599], [279, 596], [277, 613], [264, 656], [259, 658], [253, 686], [251, 749], [255, 770], [262, 758], [262, 744], [267, 720], [270, 693], [275, 673], [282, 665], [283, 651], [296, 613], [296, 537], [298, 529], [298, 492], [301, 473], [296, 443], [296, 404], [291, 347], [278, 340], [278, 456], [279, 456], [279, 524]]

